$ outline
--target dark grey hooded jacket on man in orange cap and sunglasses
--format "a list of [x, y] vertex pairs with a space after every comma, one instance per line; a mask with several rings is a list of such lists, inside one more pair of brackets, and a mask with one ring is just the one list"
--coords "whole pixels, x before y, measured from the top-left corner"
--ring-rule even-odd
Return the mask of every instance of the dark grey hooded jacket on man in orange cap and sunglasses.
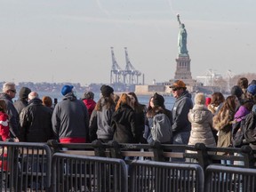
[[188, 112], [193, 108], [191, 94], [188, 91], [183, 92], [172, 108], [172, 134], [173, 136], [178, 132], [190, 132], [191, 124], [188, 121]]

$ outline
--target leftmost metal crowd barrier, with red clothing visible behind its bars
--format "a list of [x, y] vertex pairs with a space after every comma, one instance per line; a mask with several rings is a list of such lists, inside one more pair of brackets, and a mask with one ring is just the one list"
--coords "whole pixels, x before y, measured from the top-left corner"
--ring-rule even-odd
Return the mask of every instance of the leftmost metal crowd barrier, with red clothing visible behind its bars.
[[47, 191], [51, 164], [52, 152], [44, 143], [0, 142], [0, 189]]

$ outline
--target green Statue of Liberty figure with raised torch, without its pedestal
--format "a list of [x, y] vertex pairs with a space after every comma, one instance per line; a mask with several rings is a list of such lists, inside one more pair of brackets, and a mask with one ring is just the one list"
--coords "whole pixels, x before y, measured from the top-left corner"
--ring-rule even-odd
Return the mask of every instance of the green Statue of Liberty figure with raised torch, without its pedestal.
[[180, 24], [180, 32], [178, 36], [178, 46], [179, 46], [179, 55], [188, 56], [188, 49], [187, 49], [187, 30], [185, 25], [180, 22], [180, 15], [177, 14], [177, 19]]

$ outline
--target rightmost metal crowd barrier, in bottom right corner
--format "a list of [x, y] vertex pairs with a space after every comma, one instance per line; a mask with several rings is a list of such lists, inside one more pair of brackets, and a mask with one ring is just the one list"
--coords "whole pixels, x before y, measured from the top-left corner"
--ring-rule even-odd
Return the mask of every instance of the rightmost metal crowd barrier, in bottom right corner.
[[252, 168], [209, 165], [204, 174], [207, 192], [256, 191], [256, 170]]

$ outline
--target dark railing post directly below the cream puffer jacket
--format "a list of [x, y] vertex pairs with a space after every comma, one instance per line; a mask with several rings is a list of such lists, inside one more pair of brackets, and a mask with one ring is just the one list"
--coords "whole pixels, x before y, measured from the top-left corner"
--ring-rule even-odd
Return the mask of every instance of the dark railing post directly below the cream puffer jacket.
[[212, 159], [209, 158], [207, 149], [204, 143], [196, 143], [195, 148], [197, 151], [198, 163], [205, 170], [209, 164], [212, 164]]

